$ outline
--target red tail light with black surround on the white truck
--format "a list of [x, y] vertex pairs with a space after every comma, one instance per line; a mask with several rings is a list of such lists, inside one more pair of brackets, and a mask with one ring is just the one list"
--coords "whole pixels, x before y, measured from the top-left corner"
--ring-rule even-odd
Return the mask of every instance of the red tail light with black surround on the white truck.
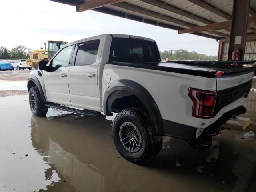
[[192, 116], [210, 119], [214, 110], [216, 91], [189, 88], [188, 96], [193, 101]]

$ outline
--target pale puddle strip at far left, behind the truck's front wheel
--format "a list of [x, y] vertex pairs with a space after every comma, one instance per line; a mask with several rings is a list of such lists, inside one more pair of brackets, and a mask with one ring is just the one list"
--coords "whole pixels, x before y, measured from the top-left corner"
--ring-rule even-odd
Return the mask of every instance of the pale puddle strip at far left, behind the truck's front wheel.
[[28, 90], [27, 81], [4, 81], [0, 80], [0, 91]]

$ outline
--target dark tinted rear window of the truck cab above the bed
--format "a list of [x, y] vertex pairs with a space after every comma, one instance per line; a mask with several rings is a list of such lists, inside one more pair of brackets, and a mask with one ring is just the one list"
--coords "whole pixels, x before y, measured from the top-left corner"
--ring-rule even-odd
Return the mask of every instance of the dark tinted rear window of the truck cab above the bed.
[[113, 38], [109, 62], [159, 62], [160, 54], [155, 42], [134, 38]]

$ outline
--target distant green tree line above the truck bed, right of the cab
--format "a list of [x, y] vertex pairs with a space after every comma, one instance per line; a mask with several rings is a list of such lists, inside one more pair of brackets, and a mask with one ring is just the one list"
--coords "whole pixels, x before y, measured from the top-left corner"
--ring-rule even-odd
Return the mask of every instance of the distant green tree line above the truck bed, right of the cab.
[[184, 49], [178, 50], [164, 50], [160, 51], [160, 56], [162, 60], [203, 60], [203, 61], [215, 61], [218, 60], [218, 56], [200, 54], [196, 51], [188, 51]]

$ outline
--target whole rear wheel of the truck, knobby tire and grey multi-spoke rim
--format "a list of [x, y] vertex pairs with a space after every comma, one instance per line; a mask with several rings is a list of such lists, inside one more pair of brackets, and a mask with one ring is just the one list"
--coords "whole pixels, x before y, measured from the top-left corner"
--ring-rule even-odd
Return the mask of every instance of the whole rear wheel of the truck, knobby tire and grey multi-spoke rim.
[[119, 112], [113, 121], [112, 135], [118, 152], [132, 163], [144, 164], [162, 148], [162, 137], [153, 134], [150, 118], [142, 110]]

